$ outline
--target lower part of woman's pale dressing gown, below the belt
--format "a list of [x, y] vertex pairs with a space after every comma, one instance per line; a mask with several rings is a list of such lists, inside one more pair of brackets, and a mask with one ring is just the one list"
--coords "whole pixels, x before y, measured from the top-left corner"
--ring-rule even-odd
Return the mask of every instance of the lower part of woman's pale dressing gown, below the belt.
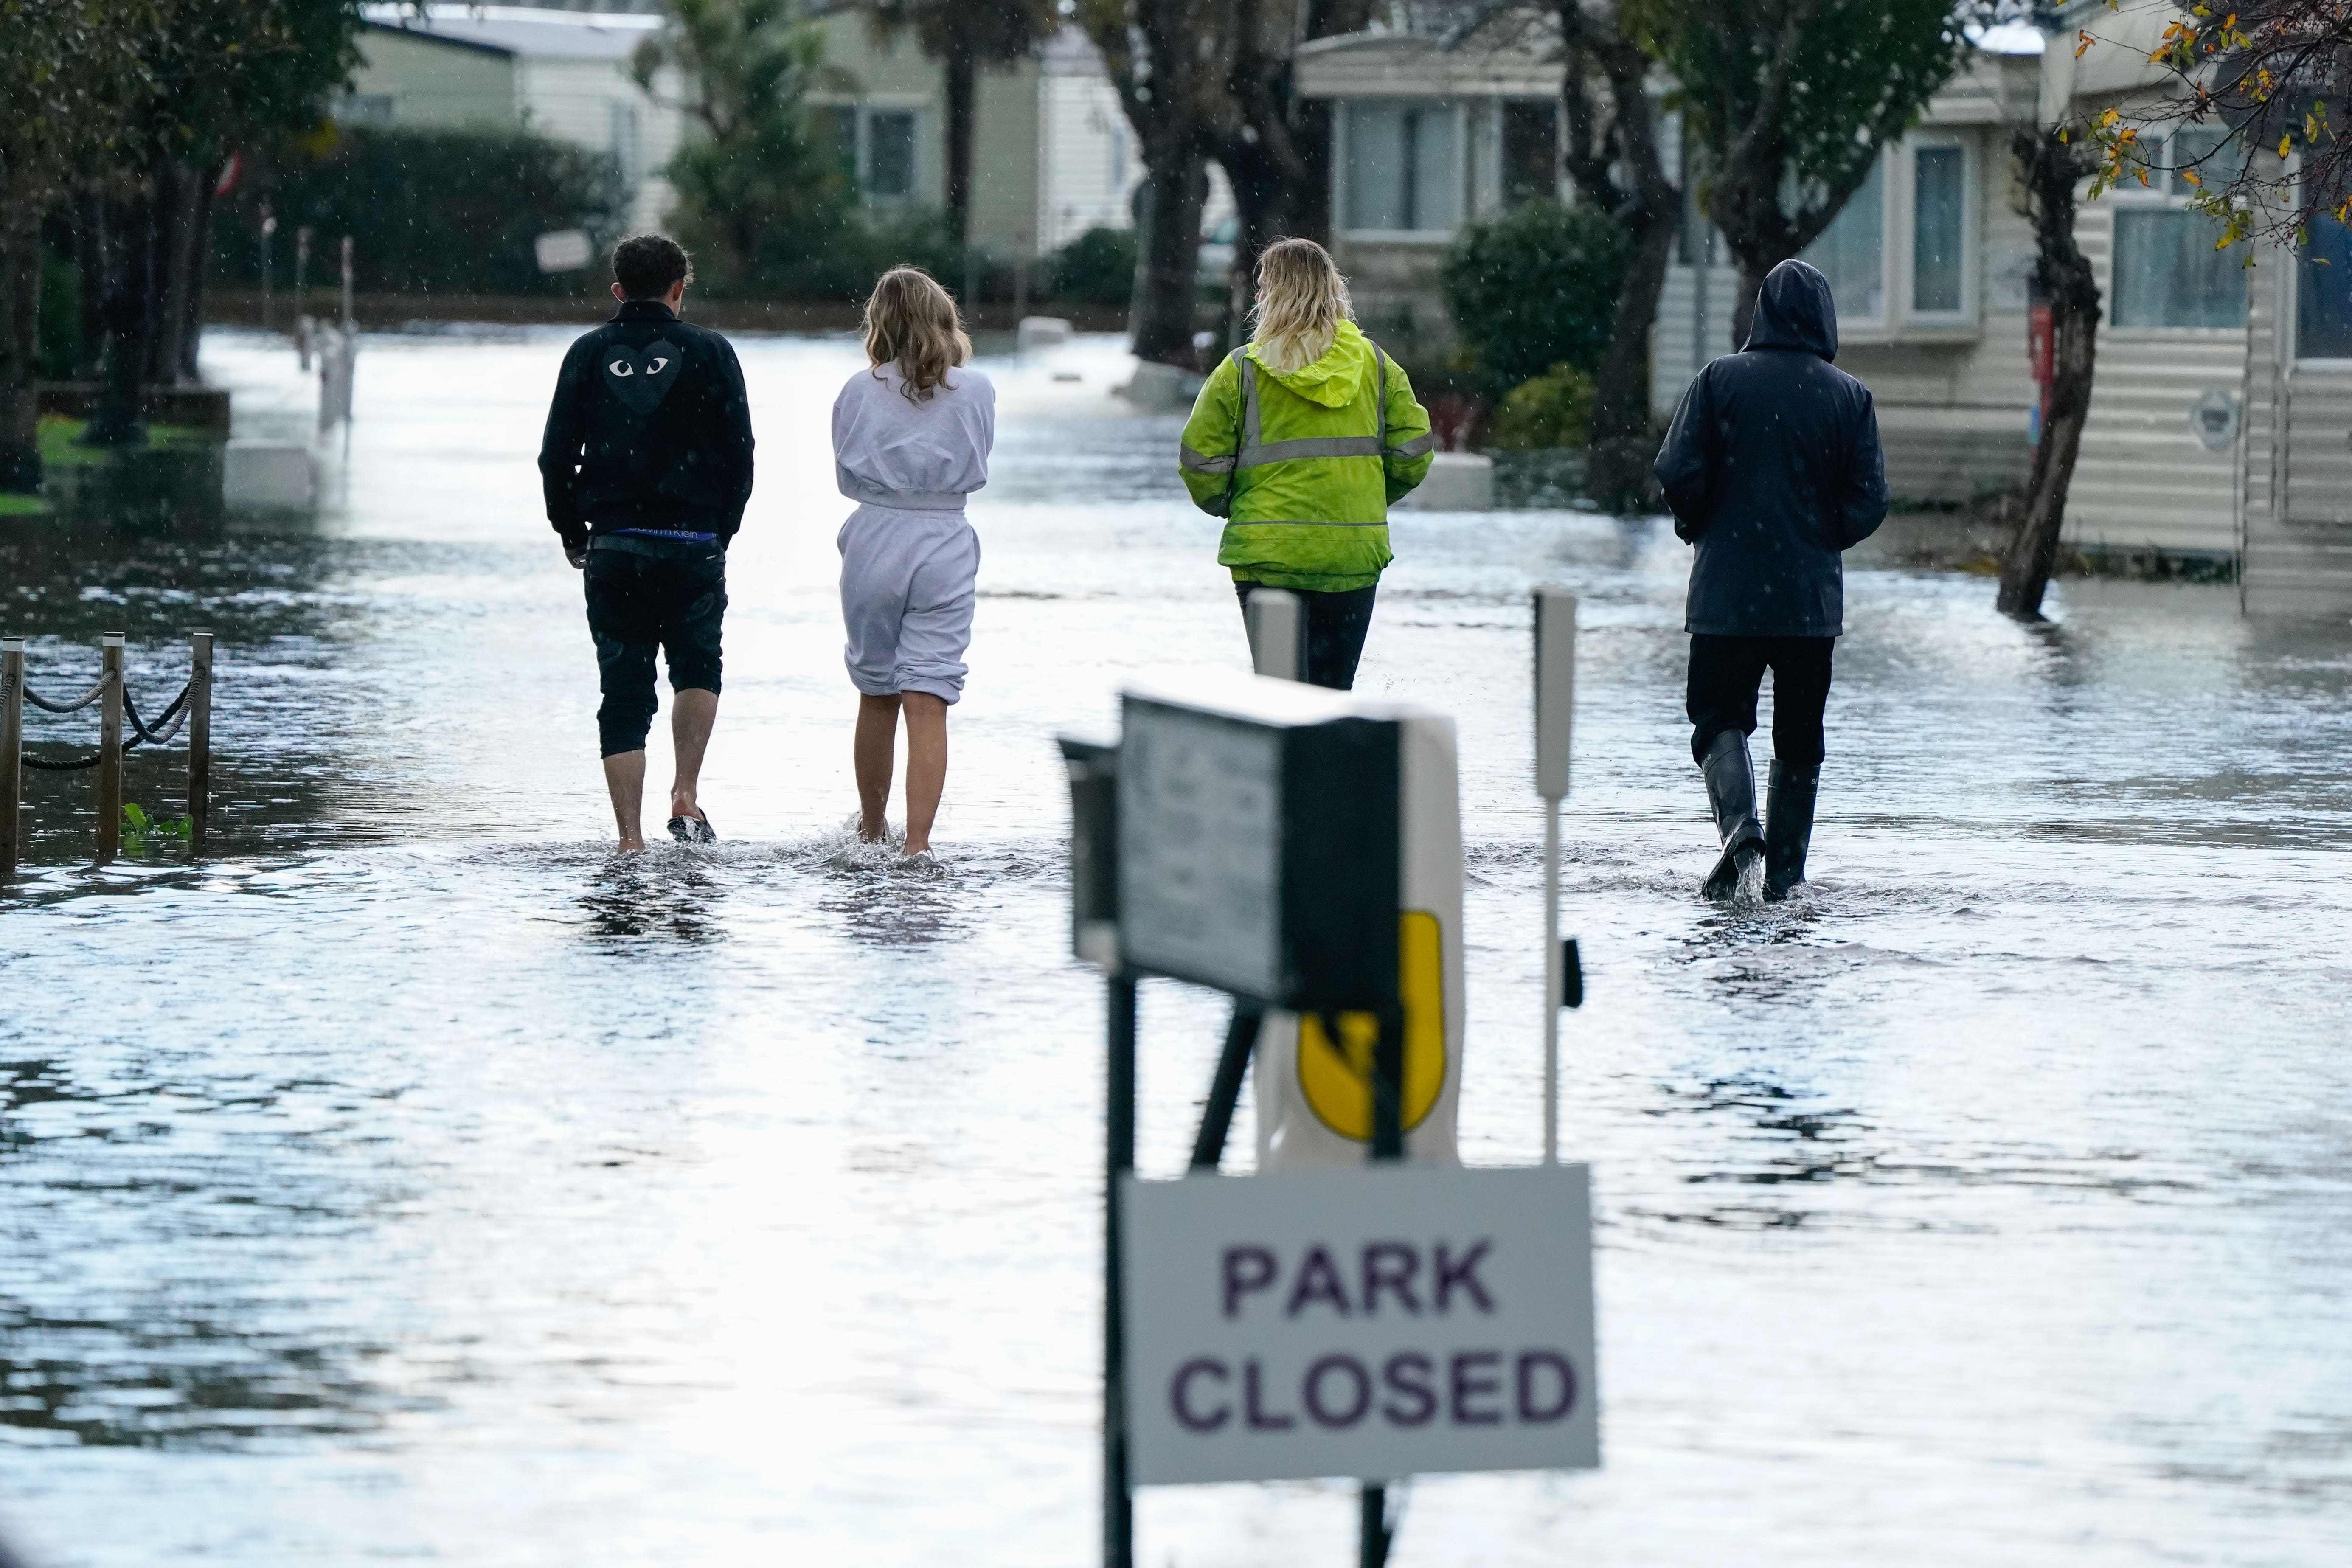
[[981, 536], [962, 512], [861, 505], [842, 524], [842, 663], [866, 696], [964, 696]]

